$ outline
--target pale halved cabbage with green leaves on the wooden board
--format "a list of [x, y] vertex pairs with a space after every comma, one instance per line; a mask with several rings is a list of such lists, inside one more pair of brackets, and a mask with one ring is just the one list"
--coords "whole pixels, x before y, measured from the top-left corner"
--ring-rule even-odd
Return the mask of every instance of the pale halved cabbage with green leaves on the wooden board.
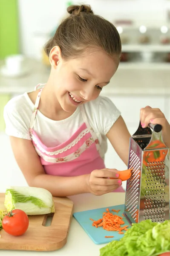
[[6, 189], [4, 205], [8, 212], [21, 209], [27, 215], [55, 212], [52, 194], [42, 188], [11, 186]]

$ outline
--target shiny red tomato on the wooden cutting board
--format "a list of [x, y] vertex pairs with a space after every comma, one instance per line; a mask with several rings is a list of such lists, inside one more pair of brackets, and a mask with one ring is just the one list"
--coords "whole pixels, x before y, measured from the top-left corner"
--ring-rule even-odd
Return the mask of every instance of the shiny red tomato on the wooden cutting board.
[[6, 233], [21, 236], [29, 227], [29, 218], [24, 211], [14, 209], [3, 217], [2, 226]]

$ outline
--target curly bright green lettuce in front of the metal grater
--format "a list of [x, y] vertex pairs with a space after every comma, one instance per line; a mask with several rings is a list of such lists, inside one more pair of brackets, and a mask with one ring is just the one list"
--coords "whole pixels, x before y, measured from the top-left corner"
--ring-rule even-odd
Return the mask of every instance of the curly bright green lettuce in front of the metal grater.
[[100, 256], [158, 256], [170, 252], [170, 221], [132, 224], [124, 237], [100, 249]]

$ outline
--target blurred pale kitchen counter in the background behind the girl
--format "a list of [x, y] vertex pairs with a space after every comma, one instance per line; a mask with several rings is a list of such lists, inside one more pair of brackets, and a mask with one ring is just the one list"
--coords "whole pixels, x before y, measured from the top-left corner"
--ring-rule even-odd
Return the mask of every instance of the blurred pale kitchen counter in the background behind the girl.
[[[110, 83], [102, 90], [102, 95], [170, 95], [169, 70], [123, 69], [118, 67]], [[127, 63], [128, 65], [128, 63]], [[0, 61], [0, 67], [3, 62]], [[28, 60], [29, 72], [25, 76], [6, 77], [0, 75], [0, 93], [22, 94], [34, 90], [38, 83], [46, 83], [50, 67], [41, 62]]]

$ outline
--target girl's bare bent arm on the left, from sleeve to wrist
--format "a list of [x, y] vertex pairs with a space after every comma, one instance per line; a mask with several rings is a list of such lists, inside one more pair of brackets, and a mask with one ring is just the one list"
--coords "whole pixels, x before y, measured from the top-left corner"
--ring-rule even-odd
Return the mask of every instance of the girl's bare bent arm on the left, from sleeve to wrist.
[[14, 157], [29, 186], [49, 190], [53, 196], [67, 196], [86, 192], [83, 175], [58, 177], [46, 175], [31, 140], [10, 137]]

